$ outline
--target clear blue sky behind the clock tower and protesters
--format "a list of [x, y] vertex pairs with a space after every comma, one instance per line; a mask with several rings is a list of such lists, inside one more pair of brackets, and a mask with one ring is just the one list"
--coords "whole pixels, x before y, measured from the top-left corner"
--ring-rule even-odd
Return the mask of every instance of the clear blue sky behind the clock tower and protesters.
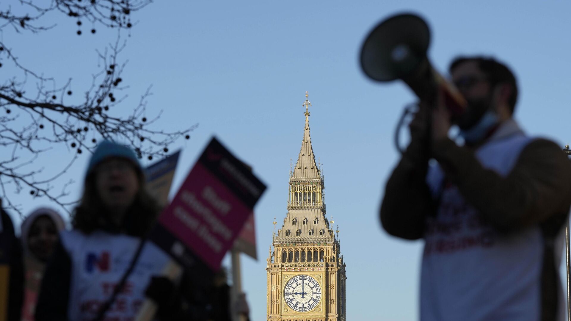
[[[11, 0], [13, 7], [18, 1]], [[10, 3], [10, 1], [8, 1]], [[2, 5], [5, 5], [3, 2]], [[303, 137], [305, 91], [312, 103], [311, 135], [324, 164], [328, 216], [339, 223], [347, 264], [347, 316], [353, 320], [417, 318], [422, 242], [388, 236], [377, 219], [385, 180], [397, 161], [393, 130], [403, 106], [414, 100], [401, 83], [369, 81], [359, 67], [361, 42], [380, 19], [402, 11], [423, 15], [432, 32], [429, 57], [445, 71], [457, 54], [486, 54], [516, 73], [516, 119], [530, 134], [571, 141], [568, 120], [571, 3], [563, 1], [171, 1], [134, 15], [123, 82], [130, 87], [116, 113], [134, 106], [148, 86], [147, 115], [164, 110], [157, 127], [199, 127], [180, 141], [174, 190], [212, 135], [250, 163], [268, 185], [256, 206], [259, 260], [242, 258], [243, 286], [253, 320], [266, 318], [266, 258], [274, 216], [287, 209], [289, 159]], [[41, 34], [0, 34], [21, 63], [82, 93], [96, 73], [95, 49], [115, 31], [48, 15], [57, 23]], [[0, 70], [6, 79], [10, 68]], [[74, 99], [73, 97], [69, 99]], [[45, 172], [73, 151], [55, 149], [39, 160]], [[81, 182], [87, 156], [59, 181]], [[75, 183], [70, 198], [77, 198]], [[45, 199], [14, 195], [26, 212]], [[279, 226], [278, 226], [279, 227]], [[226, 264], [228, 264], [226, 260]]]

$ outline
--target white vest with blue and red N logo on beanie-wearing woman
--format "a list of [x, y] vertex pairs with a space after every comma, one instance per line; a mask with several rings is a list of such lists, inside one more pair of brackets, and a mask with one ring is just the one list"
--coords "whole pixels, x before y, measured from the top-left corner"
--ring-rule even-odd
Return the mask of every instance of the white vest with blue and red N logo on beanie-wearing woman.
[[[110, 298], [114, 286], [127, 270], [139, 239], [123, 234], [96, 231], [62, 232], [61, 240], [71, 259], [69, 320], [91, 321]], [[123, 291], [107, 311], [104, 320], [134, 320], [152, 275], [159, 275], [168, 262], [167, 254], [146, 242]]]

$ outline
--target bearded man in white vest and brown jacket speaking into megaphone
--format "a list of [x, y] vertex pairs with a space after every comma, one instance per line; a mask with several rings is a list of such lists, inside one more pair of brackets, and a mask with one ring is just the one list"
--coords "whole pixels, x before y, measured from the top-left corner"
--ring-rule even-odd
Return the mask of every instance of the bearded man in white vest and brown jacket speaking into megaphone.
[[[465, 110], [452, 115], [443, 90], [420, 103], [380, 208], [389, 234], [425, 240], [420, 319], [562, 320], [557, 267], [570, 163], [514, 121], [508, 67], [463, 57], [449, 72]], [[462, 146], [449, 138], [451, 125]]]

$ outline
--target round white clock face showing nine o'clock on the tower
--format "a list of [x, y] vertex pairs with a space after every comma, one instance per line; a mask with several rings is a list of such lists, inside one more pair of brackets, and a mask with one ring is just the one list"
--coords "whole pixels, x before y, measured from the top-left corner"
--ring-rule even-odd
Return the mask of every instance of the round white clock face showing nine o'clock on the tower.
[[321, 299], [321, 288], [317, 280], [309, 275], [291, 278], [284, 288], [284, 300], [297, 312], [312, 310]]

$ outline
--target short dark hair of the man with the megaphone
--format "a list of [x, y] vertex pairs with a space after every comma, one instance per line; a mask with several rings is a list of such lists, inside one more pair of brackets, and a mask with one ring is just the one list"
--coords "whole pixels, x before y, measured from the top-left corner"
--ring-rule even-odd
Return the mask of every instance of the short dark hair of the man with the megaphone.
[[513, 114], [514, 109], [516, 109], [517, 102], [517, 83], [516, 77], [513, 75], [512, 71], [496, 59], [484, 56], [456, 57], [450, 64], [448, 71], [452, 73], [456, 67], [469, 61], [475, 61], [478, 64], [480, 70], [488, 76], [488, 80], [492, 87], [500, 83], [507, 83], [512, 87], [512, 95], [510, 95], [508, 99], [508, 105], [510, 112]]

